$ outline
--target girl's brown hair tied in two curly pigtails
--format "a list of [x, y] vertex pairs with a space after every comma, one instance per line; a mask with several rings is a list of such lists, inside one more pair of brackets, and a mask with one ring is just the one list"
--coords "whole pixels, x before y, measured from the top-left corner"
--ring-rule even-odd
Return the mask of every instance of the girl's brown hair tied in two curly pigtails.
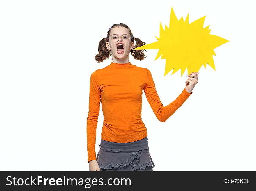
[[[99, 47], [98, 47], [98, 51], [99, 53], [95, 56], [95, 60], [98, 62], [98, 63], [101, 63], [103, 62], [103, 60], [106, 60], [107, 58], [109, 58], [111, 56], [111, 50], [108, 50], [107, 47], [106, 47], [106, 42], [109, 42], [109, 34], [110, 34], [110, 30], [111, 28], [113, 27], [116, 27], [116, 26], [122, 26], [122, 27], [125, 27], [125, 28], [128, 28], [129, 32], [130, 32], [130, 36], [131, 36], [131, 42], [135, 40], [136, 42], [136, 45], [134, 48], [137, 48], [137, 47], [140, 47], [140, 46], [143, 46], [146, 44], [146, 42], [142, 42], [141, 39], [139, 38], [135, 38], [131, 32], [131, 29], [124, 23], [116, 23], [116, 24], [113, 24], [110, 28], [109, 28], [109, 31], [107, 32], [107, 37], [106, 38], [103, 38], [102, 40], [99, 41]], [[134, 57], [134, 59], [136, 60], [143, 60], [144, 59], [144, 56], [145, 54], [143, 53], [144, 50], [130, 50], [131, 52], [131, 55]], [[146, 56], [147, 57], [147, 56]]]

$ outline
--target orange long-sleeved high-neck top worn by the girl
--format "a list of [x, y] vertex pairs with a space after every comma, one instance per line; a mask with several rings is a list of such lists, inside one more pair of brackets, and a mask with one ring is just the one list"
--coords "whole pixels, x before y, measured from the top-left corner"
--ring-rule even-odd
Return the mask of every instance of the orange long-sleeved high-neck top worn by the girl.
[[192, 94], [182, 93], [169, 105], [163, 106], [157, 94], [151, 72], [147, 68], [129, 63], [110, 65], [97, 69], [90, 76], [89, 112], [87, 117], [88, 162], [96, 160], [96, 128], [100, 101], [104, 116], [101, 138], [106, 141], [126, 143], [147, 136], [141, 119], [142, 90], [154, 114], [165, 122]]

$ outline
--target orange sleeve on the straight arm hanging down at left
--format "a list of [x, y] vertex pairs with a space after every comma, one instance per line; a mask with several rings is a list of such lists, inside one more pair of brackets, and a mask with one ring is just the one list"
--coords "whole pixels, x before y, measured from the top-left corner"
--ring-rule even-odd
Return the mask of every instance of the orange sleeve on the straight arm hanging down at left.
[[89, 112], [87, 117], [87, 152], [88, 162], [96, 160], [96, 128], [100, 109], [100, 88], [96, 71], [90, 77]]

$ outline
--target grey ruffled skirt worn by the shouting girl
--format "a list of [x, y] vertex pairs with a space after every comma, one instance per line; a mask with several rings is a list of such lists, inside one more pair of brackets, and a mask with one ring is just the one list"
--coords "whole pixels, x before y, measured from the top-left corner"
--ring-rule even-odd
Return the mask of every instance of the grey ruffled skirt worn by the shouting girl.
[[149, 153], [147, 137], [116, 143], [101, 139], [96, 157], [100, 170], [153, 170], [154, 162]]

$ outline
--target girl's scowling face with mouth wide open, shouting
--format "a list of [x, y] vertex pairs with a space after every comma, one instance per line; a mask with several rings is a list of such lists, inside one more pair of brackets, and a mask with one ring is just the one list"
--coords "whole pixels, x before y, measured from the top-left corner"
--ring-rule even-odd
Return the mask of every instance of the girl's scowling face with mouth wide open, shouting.
[[113, 62], [128, 63], [130, 50], [134, 48], [128, 28], [120, 26], [111, 28], [106, 47], [111, 50]]

